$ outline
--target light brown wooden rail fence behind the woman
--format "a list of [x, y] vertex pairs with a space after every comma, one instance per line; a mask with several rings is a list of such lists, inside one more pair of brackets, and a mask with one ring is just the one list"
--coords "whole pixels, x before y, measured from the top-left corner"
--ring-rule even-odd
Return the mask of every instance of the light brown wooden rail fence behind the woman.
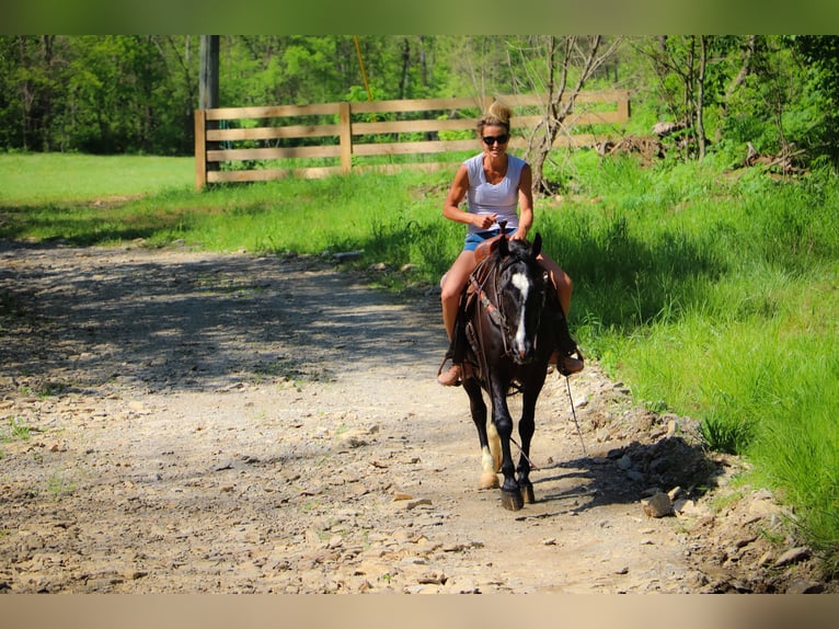
[[[514, 110], [510, 148], [527, 148], [529, 131], [542, 116], [543, 96], [506, 95], [499, 101]], [[195, 111], [195, 185], [267, 181], [284, 176], [320, 178], [349, 173], [363, 165], [354, 157], [421, 156], [480, 150], [474, 131], [480, 113], [492, 102], [480, 99], [428, 99]], [[583, 125], [618, 124], [629, 119], [627, 90], [583, 92], [576, 112], [554, 146], [593, 146], [608, 134], [575, 134]], [[411, 119], [396, 119], [399, 117]], [[257, 126], [258, 125], [258, 126]], [[461, 131], [460, 134], [451, 131]], [[468, 139], [443, 139], [468, 136]], [[409, 140], [405, 140], [409, 136]], [[309, 142], [307, 145], [307, 142]], [[263, 160], [303, 159], [327, 165], [254, 168]], [[401, 164], [404, 167], [405, 164]], [[417, 165], [417, 164], [413, 164]], [[440, 163], [422, 164], [439, 168]]]

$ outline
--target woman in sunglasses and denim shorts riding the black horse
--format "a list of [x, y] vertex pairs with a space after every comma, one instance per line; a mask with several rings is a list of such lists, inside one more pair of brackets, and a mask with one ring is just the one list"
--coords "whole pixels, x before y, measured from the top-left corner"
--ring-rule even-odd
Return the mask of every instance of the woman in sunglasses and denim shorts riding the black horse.
[[[499, 221], [507, 222], [506, 232], [513, 239], [526, 238], [533, 225], [530, 164], [507, 153], [512, 115], [509, 107], [497, 101], [490, 105], [486, 114], [478, 123], [483, 152], [460, 164], [443, 205], [443, 215], [446, 218], [469, 226], [463, 251], [441, 283], [443, 322], [449, 341], [455, 331], [460, 295], [478, 264], [474, 253], [478, 244], [499, 232]], [[464, 198], [468, 203], [467, 210], [459, 208]], [[571, 277], [544, 253], [540, 253], [538, 260], [549, 272], [562, 310], [567, 314], [571, 307]], [[556, 364], [558, 359], [559, 353], [554, 352], [551, 363]], [[563, 374], [574, 374], [583, 369], [583, 361], [564, 356], [559, 368]], [[461, 366], [452, 364], [437, 380], [441, 385], [453, 386], [461, 377]]]

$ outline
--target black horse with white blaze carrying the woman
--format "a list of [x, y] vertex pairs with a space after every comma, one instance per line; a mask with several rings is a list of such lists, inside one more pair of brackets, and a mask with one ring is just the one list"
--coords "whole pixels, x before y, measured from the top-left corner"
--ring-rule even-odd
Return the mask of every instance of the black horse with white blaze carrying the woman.
[[[481, 444], [481, 487], [497, 488], [501, 469], [502, 504], [512, 511], [535, 501], [528, 457], [536, 403], [551, 353], [562, 345], [558, 330], [565, 323], [550, 278], [537, 261], [541, 247], [540, 235], [532, 244], [501, 236], [489, 254], [479, 250], [479, 259], [486, 258], [464, 288], [452, 343], [452, 359], [464, 365], [462, 384]], [[492, 401], [489, 426], [482, 390]], [[510, 451], [514, 421], [507, 397], [512, 391], [522, 394], [517, 467]]]

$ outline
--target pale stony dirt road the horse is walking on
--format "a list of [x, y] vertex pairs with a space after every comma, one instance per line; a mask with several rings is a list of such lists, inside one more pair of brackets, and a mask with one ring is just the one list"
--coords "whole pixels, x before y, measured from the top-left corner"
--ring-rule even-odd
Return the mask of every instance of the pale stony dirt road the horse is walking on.
[[[384, 295], [323, 258], [0, 262], [0, 591], [829, 588], [772, 496], [729, 482], [740, 461], [595, 364], [571, 379], [582, 443], [549, 378], [537, 503], [503, 510], [476, 489], [466, 393], [435, 381], [430, 290]], [[650, 516], [667, 492], [675, 512]]]

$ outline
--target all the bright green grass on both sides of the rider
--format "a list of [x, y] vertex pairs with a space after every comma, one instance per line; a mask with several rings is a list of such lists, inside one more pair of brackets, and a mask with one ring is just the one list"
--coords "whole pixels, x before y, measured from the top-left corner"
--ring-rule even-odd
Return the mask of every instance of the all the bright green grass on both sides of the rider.
[[[642, 169], [581, 152], [538, 199], [575, 281], [573, 331], [655, 410], [698, 416], [720, 450], [795, 505], [839, 557], [839, 183], [702, 164]], [[364, 250], [389, 288], [436, 283], [463, 228], [451, 176], [405, 172], [192, 188], [192, 160], [0, 156], [0, 238], [255, 253]], [[572, 193], [573, 191], [573, 193]], [[403, 264], [414, 270], [399, 273]]]

